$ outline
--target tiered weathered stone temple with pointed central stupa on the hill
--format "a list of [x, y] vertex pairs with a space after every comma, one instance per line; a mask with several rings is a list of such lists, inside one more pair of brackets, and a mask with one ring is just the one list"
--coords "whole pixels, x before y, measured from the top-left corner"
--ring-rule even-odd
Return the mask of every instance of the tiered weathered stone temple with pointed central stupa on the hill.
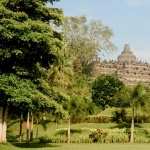
[[102, 74], [116, 74], [127, 85], [150, 84], [150, 64], [139, 61], [127, 44], [116, 61], [95, 60], [93, 75]]

